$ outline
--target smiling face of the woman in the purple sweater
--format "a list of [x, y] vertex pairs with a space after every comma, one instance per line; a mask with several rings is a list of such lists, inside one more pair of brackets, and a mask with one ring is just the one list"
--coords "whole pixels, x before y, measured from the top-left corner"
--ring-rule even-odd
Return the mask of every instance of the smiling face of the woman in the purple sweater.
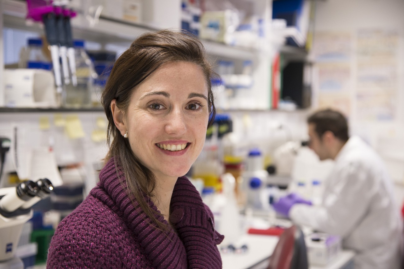
[[200, 154], [207, 98], [202, 69], [184, 61], [163, 64], [133, 91], [123, 119], [130, 147], [158, 179], [185, 175]]

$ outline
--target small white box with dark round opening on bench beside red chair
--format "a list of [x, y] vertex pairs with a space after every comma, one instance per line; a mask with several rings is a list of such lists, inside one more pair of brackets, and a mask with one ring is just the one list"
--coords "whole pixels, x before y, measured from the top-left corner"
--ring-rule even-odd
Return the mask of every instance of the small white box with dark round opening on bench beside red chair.
[[326, 233], [312, 233], [305, 237], [310, 265], [327, 265], [341, 252], [341, 237]]

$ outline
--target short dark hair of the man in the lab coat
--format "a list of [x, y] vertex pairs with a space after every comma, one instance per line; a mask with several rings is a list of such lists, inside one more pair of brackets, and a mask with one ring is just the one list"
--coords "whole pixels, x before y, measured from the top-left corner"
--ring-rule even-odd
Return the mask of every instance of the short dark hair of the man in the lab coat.
[[313, 123], [318, 137], [322, 137], [326, 131], [332, 131], [339, 140], [346, 142], [348, 136], [348, 123], [343, 114], [336, 110], [319, 110], [309, 116], [307, 123]]

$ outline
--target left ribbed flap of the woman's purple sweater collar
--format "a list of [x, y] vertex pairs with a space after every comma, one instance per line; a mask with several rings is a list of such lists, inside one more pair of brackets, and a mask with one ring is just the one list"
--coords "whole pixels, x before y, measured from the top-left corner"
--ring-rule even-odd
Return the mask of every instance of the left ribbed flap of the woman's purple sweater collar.
[[[161, 215], [156, 214], [158, 220], [168, 225], [167, 232], [160, 231], [149, 224], [152, 223], [151, 219], [143, 212], [139, 203], [132, 202], [126, 194], [125, 176], [113, 158], [101, 170], [99, 178], [99, 186], [106, 191], [110, 198], [110, 200], [104, 199], [103, 202], [124, 220], [153, 267], [157, 269], [187, 268], [185, 248], [178, 235]], [[150, 199], [148, 200], [149, 206], [158, 211], [156, 205]], [[174, 246], [174, 248], [168, 248], [168, 246]], [[177, 252], [173, 252], [173, 249]]]

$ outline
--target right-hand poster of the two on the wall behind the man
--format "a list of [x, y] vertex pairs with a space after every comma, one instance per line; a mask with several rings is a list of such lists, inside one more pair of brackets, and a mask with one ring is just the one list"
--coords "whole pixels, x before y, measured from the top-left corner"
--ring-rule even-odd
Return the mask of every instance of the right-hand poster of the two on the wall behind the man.
[[357, 35], [356, 112], [362, 121], [393, 121], [398, 111], [398, 32]]

